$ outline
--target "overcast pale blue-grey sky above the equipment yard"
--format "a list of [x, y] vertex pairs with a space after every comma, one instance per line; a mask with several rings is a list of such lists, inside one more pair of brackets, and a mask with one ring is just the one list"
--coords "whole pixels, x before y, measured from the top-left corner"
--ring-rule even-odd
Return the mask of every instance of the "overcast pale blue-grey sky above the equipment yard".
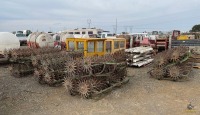
[[189, 31], [200, 0], [1, 0], [0, 31], [59, 31], [89, 26], [117, 32]]

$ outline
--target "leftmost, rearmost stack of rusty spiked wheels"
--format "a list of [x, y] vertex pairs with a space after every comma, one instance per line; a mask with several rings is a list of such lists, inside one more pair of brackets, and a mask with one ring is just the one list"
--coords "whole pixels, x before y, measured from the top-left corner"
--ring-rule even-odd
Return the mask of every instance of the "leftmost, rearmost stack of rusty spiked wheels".
[[33, 55], [58, 52], [59, 49], [43, 48], [43, 49], [12, 49], [5, 51], [5, 57], [11, 62], [10, 72], [14, 77], [22, 77], [32, 74], [34, 71], [31, 57]]

